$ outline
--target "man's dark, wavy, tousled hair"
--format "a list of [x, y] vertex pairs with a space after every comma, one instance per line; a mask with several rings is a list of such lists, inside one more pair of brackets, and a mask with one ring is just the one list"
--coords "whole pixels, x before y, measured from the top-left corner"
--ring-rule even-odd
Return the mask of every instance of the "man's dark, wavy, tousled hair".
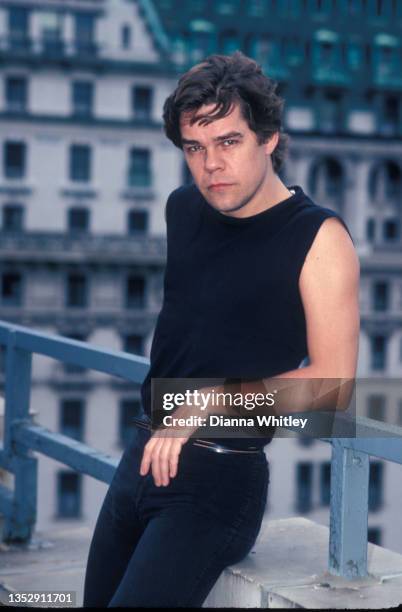
[[278, 144], [271, 154], [272, 167], [278, 172], [286, 157], [289, 136], [283, 132], [284, 100], [275, 90], [277, 83], [263, 74], [261, 67], [241, 51], [232, 55], [210, 55], [183, 74], [174, 92], [163, 106], [166, 136], [182, 148], [180, 117], [204, 104], [215, 104], [210, 113], [194, 114], [191, 124], [201, 125], [225, 117], [238, 103], [242, 117], [256, 133], [259, 144], [279, 132]]

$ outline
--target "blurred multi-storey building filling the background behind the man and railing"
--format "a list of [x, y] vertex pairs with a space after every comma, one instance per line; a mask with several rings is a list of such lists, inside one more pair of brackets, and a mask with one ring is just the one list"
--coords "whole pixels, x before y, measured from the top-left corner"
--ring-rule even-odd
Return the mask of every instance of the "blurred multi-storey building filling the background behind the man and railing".
[[[285, 98], [282, 179], [339, 211], [354, 238], [357, 412], [402, 425], [401, 25], [393, 0], [5, 3], [1, 318], [149, 354], [163, 207], [189, 180], [162, 133], [163, 101], [188, 66], [241, 49]], [[34, 368], [32, 406], [44, 425], [121, 450], [138, 389], [50, 360]], [[282, 438], [267, 455], [267, 517], [328, 523], [329, 445]], [[41, 462], [38, 526], [93, 521], [105, 486]], [[370, 539], [398, 551], [400, 475], [372, 461]]]

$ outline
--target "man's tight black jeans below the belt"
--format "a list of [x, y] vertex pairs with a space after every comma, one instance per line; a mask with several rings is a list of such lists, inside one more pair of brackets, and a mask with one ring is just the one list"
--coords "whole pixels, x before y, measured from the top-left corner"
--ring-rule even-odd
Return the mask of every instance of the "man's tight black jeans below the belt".
[[107, 491], [93, 534], [84, 607], [201, 607], [220, 574], [253, 547], [264, 515], [264, 451], [221, 454], [194, 446], [179, 455], [167, 487], [139, 474], [150, 432], [135, 431]]

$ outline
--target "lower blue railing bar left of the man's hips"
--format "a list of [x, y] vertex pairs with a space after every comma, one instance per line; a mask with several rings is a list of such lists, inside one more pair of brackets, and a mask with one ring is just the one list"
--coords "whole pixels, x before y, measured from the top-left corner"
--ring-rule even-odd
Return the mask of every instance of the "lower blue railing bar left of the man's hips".
[[118, 458], [110, 457], [87, 444], [49, 431], [40, 425], [19, 423], [15, 428], [14, 439], [33, 451], [106, 483], [112, 481], [119, 464]]

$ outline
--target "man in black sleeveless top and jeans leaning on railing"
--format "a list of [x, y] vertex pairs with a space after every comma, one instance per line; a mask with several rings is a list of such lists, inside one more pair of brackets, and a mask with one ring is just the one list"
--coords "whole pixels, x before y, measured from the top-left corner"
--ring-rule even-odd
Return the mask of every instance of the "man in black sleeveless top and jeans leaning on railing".
[[[141, 389], [145, 427], [158, 378], [268, 389], [272, 377], [325, 387], [355, 376], [358, 258], [339, 215], [278, 177], [281, 114], [275, 85], [239, 52], [210, 56], [166, 100], [166, 134], [195, 184], [166, 205], [164, 302]], [[309, 365], [299, 367], [306, 355]], [[272, 431], [212, 440], [193, 430], [136, 431], [95, 528], [85, 606], [201, 606], [223, 569], [251, 550]]]

